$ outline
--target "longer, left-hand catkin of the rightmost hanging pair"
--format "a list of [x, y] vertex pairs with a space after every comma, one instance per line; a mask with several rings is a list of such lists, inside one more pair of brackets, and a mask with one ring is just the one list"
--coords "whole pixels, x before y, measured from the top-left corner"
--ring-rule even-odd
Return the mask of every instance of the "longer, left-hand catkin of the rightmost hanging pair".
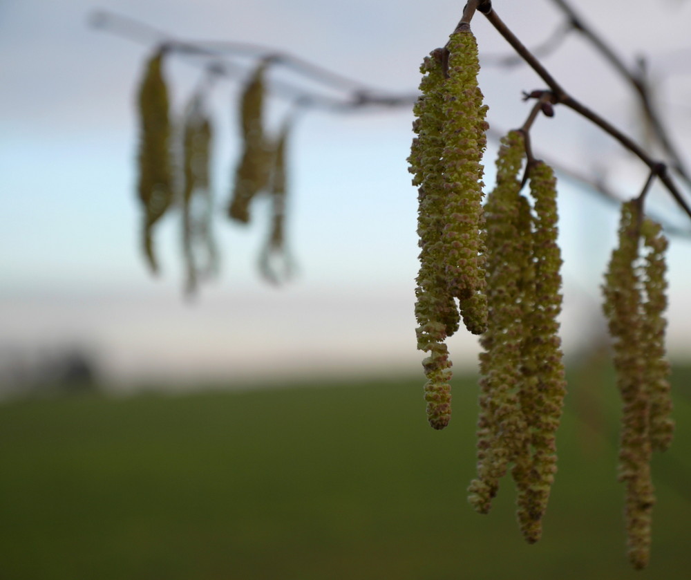
[[614, 366], [623, 400], [618, 477], [626, 486], [625, 519], [629, 559], [645, 568], [650, 559], [650, 527], [655, 503], [650, 475], [651, 397], [645, 384], [641, 280], [637, 270], [641, 204], [622, 205], [618, 247], [612, 252], [603, 291], [603, 310], [614, 338]]

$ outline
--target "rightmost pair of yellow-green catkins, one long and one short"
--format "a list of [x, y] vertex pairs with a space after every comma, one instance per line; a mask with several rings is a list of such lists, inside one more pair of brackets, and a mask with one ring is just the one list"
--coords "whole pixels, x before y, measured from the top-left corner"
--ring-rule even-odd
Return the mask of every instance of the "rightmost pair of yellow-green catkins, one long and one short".
[[627, 545], [629, 559], [639, 569], [650, 558], [655, 503], [650, 457], [653, 450], [669, 447], [674, 429], [664, 358], [666, 249], [660, 225], [644, 218], [640, 200], [624, 203], [618, 247], [605, 274], [603, 310], [614, 338], [614, 366], [623, 401], [618, 476], [626, 485]]

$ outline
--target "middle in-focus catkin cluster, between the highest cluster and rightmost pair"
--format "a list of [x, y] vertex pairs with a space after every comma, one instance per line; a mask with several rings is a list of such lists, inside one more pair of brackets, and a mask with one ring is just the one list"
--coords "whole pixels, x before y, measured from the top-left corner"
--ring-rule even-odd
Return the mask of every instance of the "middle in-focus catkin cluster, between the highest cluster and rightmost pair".
[[477, 478], [468, 500], [487, 513], [511, 465], [518, 522], [537, 541], [556, 471], [555, 436], [565, 395], [559, 324], [562, 263], [557, 238], [556, 180], [536, 162], [533, 208], [520, 194], [524, 141], [502, 140], [497, 185], [485, 206], [488, 328], [480, 355]]

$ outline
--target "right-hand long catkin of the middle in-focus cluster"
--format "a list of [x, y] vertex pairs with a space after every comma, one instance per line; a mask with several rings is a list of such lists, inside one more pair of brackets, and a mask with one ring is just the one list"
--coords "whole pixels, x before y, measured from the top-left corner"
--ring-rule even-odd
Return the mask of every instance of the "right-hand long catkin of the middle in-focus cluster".
[[556, 472], [556, 431], [566, 394], [558, 335], [561, 312], [561, 252], [557, 244], [556, 178], [542, 161], [531, 166], [534, 227], [530, 272], [522, 297], [524, 338], [520, 404], [527, 424], [525, 447], [516, 458], [518, 522], [529, 543], [540, 539], [542, 516]]

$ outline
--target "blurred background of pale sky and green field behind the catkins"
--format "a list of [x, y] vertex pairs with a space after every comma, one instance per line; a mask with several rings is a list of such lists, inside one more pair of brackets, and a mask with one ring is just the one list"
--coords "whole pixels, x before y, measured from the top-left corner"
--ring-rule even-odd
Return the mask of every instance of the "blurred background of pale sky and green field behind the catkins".
[[[645, 59], [663, 122], [689, 162], [691, 3], [649, 4], [584, 0], [578, 10], [627, 64]], [[560, 32], [555, 3], [496, 0], [495, 8], [528, 46], [563, 37], [547, 68], [649, 142], [630, 86], [583, 37]], [[627, 577], [599, 288], [618, 209], [569, 174], [630, 198], [645, 168], [566, 109], [533, 127], [536, 154], [565, 170], [562, 338], [572, 410], [545, 539], [528, 548], [508, 482], [489, 518], [464, 500], [475, 461], [474, 337], [449, 341], [453, 428], [432, 433], [424, 420], [410, 108], [301, 117], [286, 225], [297, 273], [276, 288], [256, 267], [268, 227], [261, 205], [249, 227], [225, 217], [240, 153], [238, 95], [251, 66], [239, 59], [238, 78], [213, 93], [220, 274], [186, 299], [178, 216], [156, 234], [158, 277], [140, 252], [135, 102], [155, 38], [95, 28], [97, 10], [180, 39], [264, 44], [414, 95], [419, 63], [446, 42], [462, 3], [0, 2], [0, 577], [495, 578], [522, 567], [545, 578]], [[522, 91], [543, 84], [525, 66], [502, 64], [511, 50], [484, 17], [473, 30], [488, 120], [502, 134], [529, 113]], [[191, 59], [171, 58], [177, 109], [200, 72]], [[277, 115], [285, 102], [268, 106]], [[490, 184], [495, 151], [492, 140]], [[663, 189], [654, 188], [650, 207], [670, 232], [691, 232]], [[660, 578], [690, 563], [690, 239], [671, 236], [669, 254], [679, 434], [654, 467], [665, 475], [656, 476], [645, 572]]]

